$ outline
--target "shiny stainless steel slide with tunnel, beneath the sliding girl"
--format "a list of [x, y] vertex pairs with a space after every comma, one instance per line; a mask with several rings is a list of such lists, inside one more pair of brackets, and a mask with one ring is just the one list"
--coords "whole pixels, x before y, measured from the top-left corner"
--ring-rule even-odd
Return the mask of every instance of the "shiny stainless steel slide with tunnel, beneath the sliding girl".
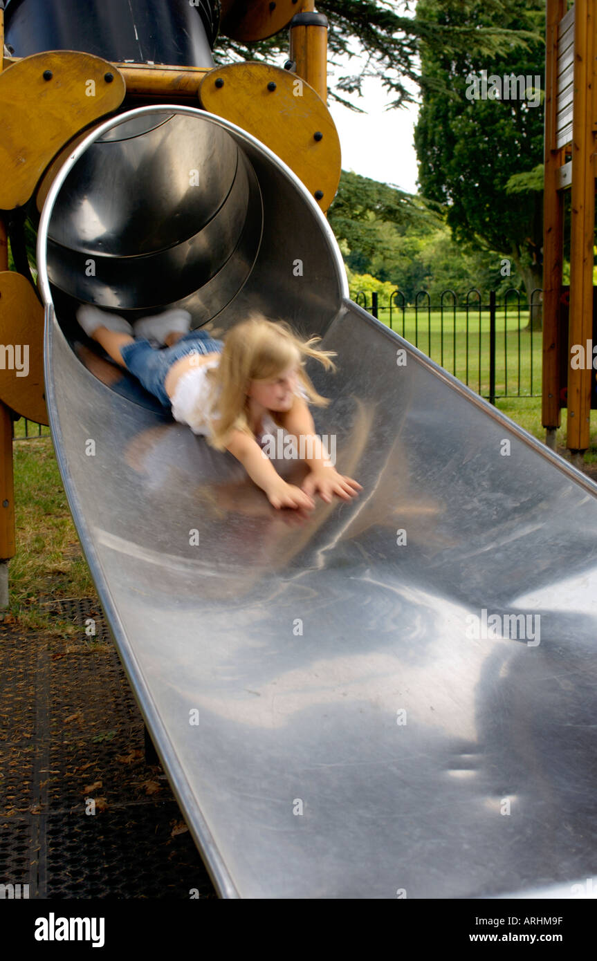
[[[259, 141], [205, 112], [153, 114], [186, 134], [166, 120], [124, 148], [87, 138], [48, 197], [46, 399], [114, 642], [218, 891], [574, 897], [597, 871], [597, 487], [348, 299], [325, 218]], [[217, 177], [200, 171], [194, 215], [180, 136], [192, 167], [211, 169], [210, 144], [225, 154]], [[176, 239], [205, 295], [177, 286], [167, 209], [163, 244], [139, 230], [139, 251], [116, 223], [146, 149], [169, 174], [152, 202], [182, 191]], [[211, 262], [201, 233], [218, 218]], [[100, 259], [86, 285], [80, 259], [109, 234], [117, 259], [119, 231], [129, 270], [111, 262], [103, 280]], [[139, 309], [136, 256], [164, 250], [170, 293]], [[321, 333], [337, 372], [309, 368], [332, 399], [316, 429], [361, 496], [289, 524], [234, 457], [93, 353], [72, 323], [86, 294], [139, 314], [190, 305], [224, 333], [251, 307]]]

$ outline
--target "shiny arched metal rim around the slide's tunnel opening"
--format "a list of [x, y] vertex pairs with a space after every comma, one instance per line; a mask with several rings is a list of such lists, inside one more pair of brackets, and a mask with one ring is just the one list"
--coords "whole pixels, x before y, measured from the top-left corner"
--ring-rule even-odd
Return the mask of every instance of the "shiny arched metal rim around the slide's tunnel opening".
[[274, 166], [286, 177], [286, 180], [290, 182], [291, 185], [298, 190], [303, 199], [306, 201], [308, 206], [311, 208], [311, 212], [315, 215], [315, 218], [321, 228], [323, 234], [328, 241], [330, 248], [330, 253], [334, 259], [336, 265], [336, 274], [339, 280], [340, 286], [340, 296], [342, 299], [349, 298], [348, 289], [348, 279], [346, 277], [346, 270], [344, 268], [344, 261], [342, 260], [342, 255], [340, 254], [339, 247], [337, 245], [336, 237], [330, 224], [328, 223], [323, 211], [315, 202], [314, 197], [307, 187], [303, 184], [301, 180], [296, 176], [293, 170], [281, 160], [277, 154], [274, 154], [272, 150], [269, 149], [261, 140], [258, 140], [256, 136], [248, 134], [241, 127], [237, 127], [236, 124], [231, 123], [230, 120], [224, 120], [223, 117], [218, 117], [215, 113], [210, 113], [209, 111], [201, 111], [195, 107], [181, 107], [177, 104], [161, 104], [160, 106], [149, 106], [149, 107], [137, 107], [136, 110], [127, 111], [126, 113], [119, 113], [115, 117], [111, 117], [105, 123], [101, 124], [94, 131], [92, 131], [89, 136], [81, 141], [80, 144], [73, 150], [72, 154], [68, 156], [68, 159], [64, 161], [61, 169], [56, 175], [45, 199], [43, 209], [41, 210], [41, 216], [39, 218], [39, 226], [37, 228], [37, 273], [38, 273], [38, 283], [40, 287], [41, 296], [43, 298], [44, 305], [52, 304], [52, 295], [50, 293], [50, 285], [47, 277], [47, 258], [46, 258], [46, 247], [47, 247], [47, 234], [50, 223], [50, 217], [52, 215], [52, 210], [56, 203], [56, 199], [61, 190], [64, 180], [68, 176], [70, 170], [75, 165], [77, 160], [85, 154], [87, 148], [91, 146], [100, 136], [103, 136], [108, 131], [112, 130], [112, 127], [116, 127], [119, 124], [125, 122], [126, 120], [131, 120], [133, 117], [142, 116], [146, 113], [182, 113], [187, 116], [196, 116], [198, 118], [208, 118], [213, 123], [217, 124], [223, 130], [228, 131], [230, 134], [234, 134], [241, 140], [257, 147], [258, 150], [264, 154]]

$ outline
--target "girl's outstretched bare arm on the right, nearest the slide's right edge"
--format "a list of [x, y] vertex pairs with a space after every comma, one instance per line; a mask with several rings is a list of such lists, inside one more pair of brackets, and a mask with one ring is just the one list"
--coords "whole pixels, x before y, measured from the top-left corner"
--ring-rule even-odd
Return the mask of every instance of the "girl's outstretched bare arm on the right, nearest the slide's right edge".
[[322, 501], [330, 503], [336, 494], [344, 501], [356, 497], [361, 484], [357, 480], [338, 474], [328, 454], [325, 444], [315, 433], [315, 425], [311, 410], [302, 397], [296, 397], [290, 410], [281, 414], [285, 430], [294, 437], [296, 450], [300, 454], [301, 438], [303, 450], [307, 454], [303, 459], [309, 464], [311, 473], [303, 482], [302, 489], [306, 494], [319, 492]]

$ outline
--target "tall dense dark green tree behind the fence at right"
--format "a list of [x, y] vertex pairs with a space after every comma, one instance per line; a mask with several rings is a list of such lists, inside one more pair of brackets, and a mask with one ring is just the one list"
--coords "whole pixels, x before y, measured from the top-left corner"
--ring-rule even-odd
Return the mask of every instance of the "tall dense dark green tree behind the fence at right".
[[[495, 22], [496, 12], [483, 2], [467, 6], [464, 11], [457, 0], [419, 0], [416, 16], [428, 25]], [[423, 197], [447, 209], [457, 242], [511, 259], [529, 303], [542, 286], [543, 111], [533, 103], [536, 87], [543, 88], [544, 14], [543, 0], [527, 0], [524, 7], [505, 0], [499, 22], [535, 40], [521, 49], [505, 39], [491, 59], [476, 45], [440, 52], [422, 41], [423, 100], [415, 129]], [[513, 81], [503, 78], [519, 76], [531, 81], [517, 85], [517, 99], [510, 99]], [[536, 322], [540, 326], [540, 317]]]

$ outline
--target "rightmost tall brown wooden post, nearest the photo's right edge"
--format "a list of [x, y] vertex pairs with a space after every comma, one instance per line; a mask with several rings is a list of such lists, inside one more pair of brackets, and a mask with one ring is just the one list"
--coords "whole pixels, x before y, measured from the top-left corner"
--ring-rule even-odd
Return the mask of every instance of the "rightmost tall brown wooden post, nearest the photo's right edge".
[[[593, 170], [592, 102], [595, 14], [588, 0], [577, 0], [574, 32], [574, 115], [572, 118], [572, 223], [570, 227], [570, 326], [568, 338], [568, 433], [566, 446], [582, 463], [589, 444], [592, 357], [585, 369], [570, 365], [574, 344], [586, 347], [593, 328]], [[588, 367], [588, 369], [586, 369]]]

